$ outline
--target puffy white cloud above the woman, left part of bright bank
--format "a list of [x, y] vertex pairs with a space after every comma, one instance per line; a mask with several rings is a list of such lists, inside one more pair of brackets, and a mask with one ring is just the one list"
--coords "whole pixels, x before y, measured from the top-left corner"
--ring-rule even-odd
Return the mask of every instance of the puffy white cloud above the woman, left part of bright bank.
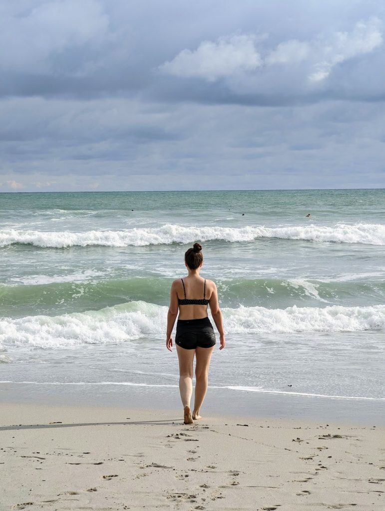
[[170, 75], [203, 78], [209, 82], [234, 73], [255, 71], [262, 64], [255, 40], [256, 36], [244, 34], [220, 37], [216, 42], [203, 41], [197, 50], [183, 50], [159, 69]]

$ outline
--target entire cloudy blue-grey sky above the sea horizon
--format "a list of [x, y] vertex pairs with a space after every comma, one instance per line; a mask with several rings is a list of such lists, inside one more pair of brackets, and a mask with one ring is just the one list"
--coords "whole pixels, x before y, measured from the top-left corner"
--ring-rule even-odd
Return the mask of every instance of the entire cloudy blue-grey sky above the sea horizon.
[[385, 188], [382, 0], [0, 0], [0, 192]]

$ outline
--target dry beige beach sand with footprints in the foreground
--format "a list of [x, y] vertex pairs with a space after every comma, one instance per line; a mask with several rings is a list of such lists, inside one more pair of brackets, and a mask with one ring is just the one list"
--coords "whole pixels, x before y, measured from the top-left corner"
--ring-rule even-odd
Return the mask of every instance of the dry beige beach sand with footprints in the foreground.
[[0, 438], [1, 511], [385, 508], [375, 424], [0, 403]]

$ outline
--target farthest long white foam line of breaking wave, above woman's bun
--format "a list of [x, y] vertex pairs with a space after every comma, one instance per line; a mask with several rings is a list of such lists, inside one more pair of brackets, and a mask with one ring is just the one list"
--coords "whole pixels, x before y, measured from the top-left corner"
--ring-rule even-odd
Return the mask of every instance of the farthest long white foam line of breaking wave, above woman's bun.
[[385, 245], [383, 224], [341, 224], [333, 226], [284, 227], [194, 227], [165, 224], [157, 228], [125, 230], [91, 230], [84, 233], [71, 231], [0, 230], [0, 247], [14, 243], [39, 247], [63, 248], [70, 246], [102, 245], [112, 247], [145, 246], [193, 241], [224, 240], [230, 242], [253, 241], [257, 238], [281, 238], [319, 242], [368, 243]]

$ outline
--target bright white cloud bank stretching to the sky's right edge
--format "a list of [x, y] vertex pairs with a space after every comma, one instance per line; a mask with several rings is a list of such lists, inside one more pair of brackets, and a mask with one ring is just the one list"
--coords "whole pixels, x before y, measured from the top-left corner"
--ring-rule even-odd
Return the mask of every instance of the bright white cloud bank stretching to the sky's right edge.
[[350, 31], [319, 33], [308, 41], [288, 39], [273, 49], [268, 48], [267, 36], [224, 36], [200, 43], [196, 51], [183, 50], [159, 69], [207, 82], [223, 79], [238, 95], [278, 97], [281, 92], [287, 97], [292, 90], [297, 98], [299, 92], [305, 97], [314, 92], [311, 84], [325, 82], [334, 67], [379, 48], [381, 26], [380, 19], [372, 17], [357, 22]]

